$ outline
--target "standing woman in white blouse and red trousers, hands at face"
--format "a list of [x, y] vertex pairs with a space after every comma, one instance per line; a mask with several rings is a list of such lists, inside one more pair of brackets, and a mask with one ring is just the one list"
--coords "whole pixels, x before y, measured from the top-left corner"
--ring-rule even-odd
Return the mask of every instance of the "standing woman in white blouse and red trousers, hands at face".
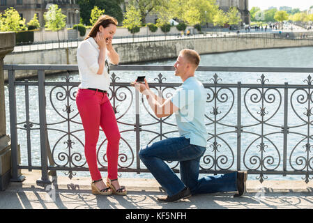
[[[114, 17], [101, 15], [88, 36], [77, 48], [77, 63], [81, 84], [76, 105], [85, 132], [85, 156], [92, 178], [93, 194], [125, 195], [125, 187], [117, 180], [119, 140], [121, 138], [109, 91], [109, 62], [119, 63], [119, 54], [112, 47], [112, 38], [118, 22]], [[107, 137], [107, 185], [98, 169], [96, 146], [101, 126]]]

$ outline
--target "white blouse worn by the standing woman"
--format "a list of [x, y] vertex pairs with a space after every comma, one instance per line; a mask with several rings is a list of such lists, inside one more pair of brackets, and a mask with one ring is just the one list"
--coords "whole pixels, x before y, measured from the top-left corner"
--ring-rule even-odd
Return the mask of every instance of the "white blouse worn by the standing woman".
[[79, 43], [76, 56], [81, 80], [81, 84], [79, 84], [78, 88], [109, 91], [110, 77], [107, 51], [105, 54], [105, 68], [101, 75], [97, 75], [99, 70], [99, 48], [96, 40], [91, 37]]

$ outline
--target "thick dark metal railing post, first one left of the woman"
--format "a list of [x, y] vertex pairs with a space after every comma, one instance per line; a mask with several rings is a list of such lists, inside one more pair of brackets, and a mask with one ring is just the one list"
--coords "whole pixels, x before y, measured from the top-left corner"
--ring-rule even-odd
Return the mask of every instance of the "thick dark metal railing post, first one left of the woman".
[[45, 70], [38, 70], [38, 99], [39, 99], [39, 122], [40, 122], [40, 155], [41, 155], [41, 178], [36, 181], [37, 185], [52, 183], [48, 176], [47, 162], [47, 123], [46, 123], [46, 99], [45, 99]]

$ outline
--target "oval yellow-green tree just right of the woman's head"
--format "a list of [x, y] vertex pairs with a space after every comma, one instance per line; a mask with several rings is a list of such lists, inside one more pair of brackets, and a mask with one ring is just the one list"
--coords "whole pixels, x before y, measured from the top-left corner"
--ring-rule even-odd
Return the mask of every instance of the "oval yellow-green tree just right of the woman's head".
[[135, 36], [135, 33], [139, 31], [139, 26], [141, 24], [142, 17], [140, 15], [140, 11], [135, 8], [135, 6], [128, 6], [126, 9], [126, 13], [123, 20], [123, 26], [128, 28], [130, 33], [132, 33], [132, 37]]

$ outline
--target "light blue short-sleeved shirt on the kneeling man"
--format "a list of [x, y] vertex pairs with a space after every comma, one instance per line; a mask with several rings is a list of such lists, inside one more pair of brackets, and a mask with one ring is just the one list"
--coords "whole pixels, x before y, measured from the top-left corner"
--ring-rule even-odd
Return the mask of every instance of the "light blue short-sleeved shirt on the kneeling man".
[[175, 112], [180, 136], [190, 139], [190, 144], [206, 147], [206, 90], [196, 77], [189, 77], [171, 96], [171, 102], [178, 107]]

